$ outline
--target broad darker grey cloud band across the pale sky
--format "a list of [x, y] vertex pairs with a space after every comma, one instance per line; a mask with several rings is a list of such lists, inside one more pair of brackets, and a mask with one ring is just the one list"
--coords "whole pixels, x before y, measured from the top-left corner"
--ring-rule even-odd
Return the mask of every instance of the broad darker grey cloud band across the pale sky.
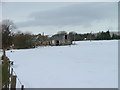
[[95, 20], [116, 19], [117, 3], [74, 3], [59, 9], [34, 12], [29, 18], [33, 18], [33, 20], [17, 23], [17, 25], [19, 27], [41, 25], [81, 25], [88, 27]]

